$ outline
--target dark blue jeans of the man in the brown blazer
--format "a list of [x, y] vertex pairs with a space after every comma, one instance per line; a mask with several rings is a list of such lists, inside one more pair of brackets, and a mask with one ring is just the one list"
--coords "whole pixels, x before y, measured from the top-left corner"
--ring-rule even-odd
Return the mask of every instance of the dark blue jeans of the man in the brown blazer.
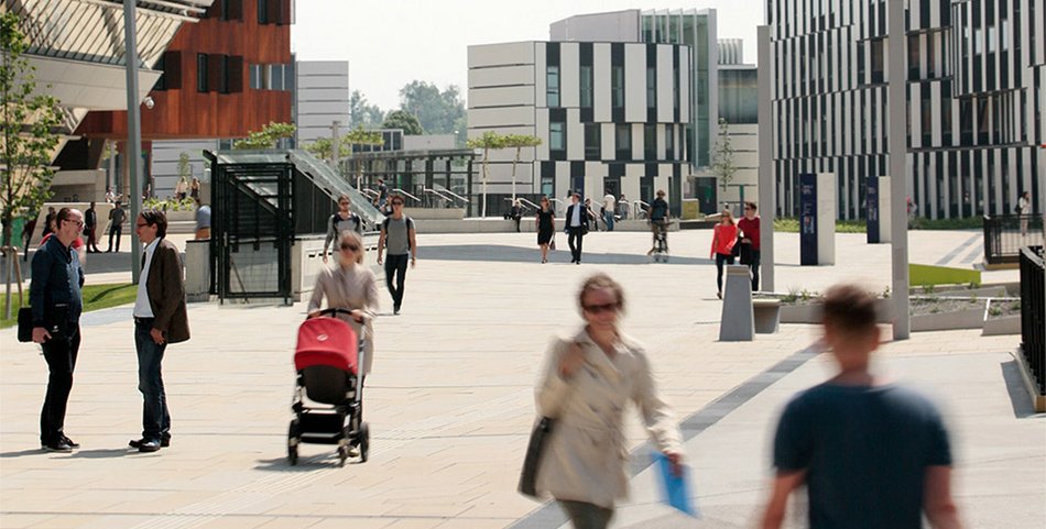
[[152, 318], [134, 318], [134, 346], [138, 349], [138, 390], [142, 392], [142, 439], [161, 441], [171, 437], [171, 414], [163, 389], [161, 363], [167, 344], [153, 341]]

